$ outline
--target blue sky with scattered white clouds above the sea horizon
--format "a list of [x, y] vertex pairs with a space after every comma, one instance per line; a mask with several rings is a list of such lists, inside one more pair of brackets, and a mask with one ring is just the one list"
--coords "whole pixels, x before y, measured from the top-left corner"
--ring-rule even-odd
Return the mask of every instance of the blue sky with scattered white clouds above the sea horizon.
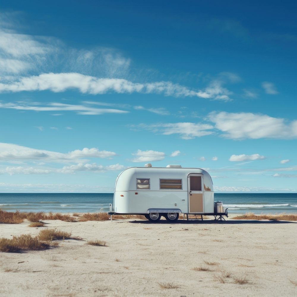
[[0, 191], [113, 192], [152, 163], [296, 192], [296, 4], [0, 4]]

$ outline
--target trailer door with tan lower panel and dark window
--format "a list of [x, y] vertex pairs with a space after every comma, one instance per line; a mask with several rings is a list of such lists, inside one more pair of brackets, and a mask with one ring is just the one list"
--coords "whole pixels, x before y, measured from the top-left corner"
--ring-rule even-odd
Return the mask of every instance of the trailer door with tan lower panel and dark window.
[[189, 174], [189, 213], [203, 213], [203, 175]]

